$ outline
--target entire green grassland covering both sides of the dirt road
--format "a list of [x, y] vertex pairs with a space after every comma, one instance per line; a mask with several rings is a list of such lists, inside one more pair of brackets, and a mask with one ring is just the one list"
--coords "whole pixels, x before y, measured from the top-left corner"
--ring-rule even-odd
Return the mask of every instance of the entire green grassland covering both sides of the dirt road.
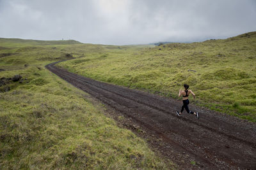
[[[0, 38], [0, 167], [168, 169], [147, 143], [104, 116], [104, 106], [45, 69], [58, 64], [95, 80], [177, 98], [256, 122], [256, 32], [200, 43], [91, 45]], [[10, 91], [6, 91], [6, 87]]]

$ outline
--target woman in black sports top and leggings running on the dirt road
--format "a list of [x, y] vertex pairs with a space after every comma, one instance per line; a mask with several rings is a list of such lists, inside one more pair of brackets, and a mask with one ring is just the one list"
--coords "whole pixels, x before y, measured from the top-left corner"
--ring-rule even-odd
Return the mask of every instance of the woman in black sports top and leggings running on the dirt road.
[[188, 108], [188, 104], [189, 104], [189, 100], [188, 100], [188, 96], [189, 94], [192, 94], [194, 96], [194, 99], [195, 99], [195, 94], [192, 92], [192, 90], [188, 90], [189, 88], [189, 85], [187, 84], [184, 84], [184, 91], [180, 89], [180, 92], [179, 92], [179, 97], [182, 95], [182, 101], [183, 101], [183, 106], [181, 108], [181, 111], [176, 111], [177, 115], [180, 117], [182, 111], [185, 110], [190, 113], [190, 114], [194, 114], [196, 115], [196, 117], [199, 119], [199, 115], [198, 115], [198, 112], [195, 112], [195, 111], [190, 111], [189, 108]]

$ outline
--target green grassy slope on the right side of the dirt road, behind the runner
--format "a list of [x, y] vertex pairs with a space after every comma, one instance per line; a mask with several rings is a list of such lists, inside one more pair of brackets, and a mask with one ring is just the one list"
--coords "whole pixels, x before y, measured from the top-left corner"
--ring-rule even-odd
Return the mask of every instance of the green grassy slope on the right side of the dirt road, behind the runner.
[[256, 32], [248, 32], [200, 43], [104, 47], [58, 66], [168, 97], [188, 83], [193, 103], [256, 122], [255, 46]]

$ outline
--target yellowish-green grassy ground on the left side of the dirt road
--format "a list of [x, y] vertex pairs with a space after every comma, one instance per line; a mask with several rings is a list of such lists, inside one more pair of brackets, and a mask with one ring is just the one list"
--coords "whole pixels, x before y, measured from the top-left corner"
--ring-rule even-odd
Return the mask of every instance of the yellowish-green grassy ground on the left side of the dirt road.
[[[6, 83], [0, 87], [0, 169], [173, 167], [104, 116], [87, 94], [44, 68], [117, 46], [47, 44], [0, 39], [0, 83]], [[22, 79], [8, 80], [15, 74]]]

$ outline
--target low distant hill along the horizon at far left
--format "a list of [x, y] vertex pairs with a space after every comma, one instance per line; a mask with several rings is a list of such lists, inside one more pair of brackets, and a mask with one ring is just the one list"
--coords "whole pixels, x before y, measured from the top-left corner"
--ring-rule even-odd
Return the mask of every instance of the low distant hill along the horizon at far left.
[[34, 39], [20, 39], [20, 38], [0, 38], [2, 43], [29, 43], [34, 45], [71, 45], [71, 44], [81, 44], [76, 40], [57, 40], [57, 41], [43, 41]]

